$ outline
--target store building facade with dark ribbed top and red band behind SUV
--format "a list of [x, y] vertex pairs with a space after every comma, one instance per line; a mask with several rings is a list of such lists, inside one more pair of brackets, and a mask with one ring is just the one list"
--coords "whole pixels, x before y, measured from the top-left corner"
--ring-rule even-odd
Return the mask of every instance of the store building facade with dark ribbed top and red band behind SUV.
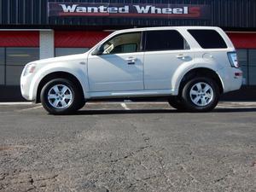
[[239, 96], [256, 98], [255, 0], [0, 0], [0, 10], [2, 101], [20, 100], [27, 62], [84, 53], [114, 30], [145, 26], [223, 28], [244, 74]]

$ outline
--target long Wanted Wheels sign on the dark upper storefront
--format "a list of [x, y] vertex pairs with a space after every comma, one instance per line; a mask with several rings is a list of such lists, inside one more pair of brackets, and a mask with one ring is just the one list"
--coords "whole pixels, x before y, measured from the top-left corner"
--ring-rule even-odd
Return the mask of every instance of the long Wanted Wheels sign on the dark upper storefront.
[[125, 3], [48, 3], [48, 16], [148, 17], [201, 19], [210, 17], [208, 5], [125, 4]]

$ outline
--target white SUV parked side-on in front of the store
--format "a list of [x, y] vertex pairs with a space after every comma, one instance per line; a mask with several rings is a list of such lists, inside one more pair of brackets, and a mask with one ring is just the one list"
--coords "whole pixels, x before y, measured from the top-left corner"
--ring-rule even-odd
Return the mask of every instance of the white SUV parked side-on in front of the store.
[[113, 32], [88, 52], [24, 68], [27, 100], [71, 113], [91, 99], [165, 97], [173, 108], [206, 112], [241, 87], [236, 49], [218, 27], [177, 26]]

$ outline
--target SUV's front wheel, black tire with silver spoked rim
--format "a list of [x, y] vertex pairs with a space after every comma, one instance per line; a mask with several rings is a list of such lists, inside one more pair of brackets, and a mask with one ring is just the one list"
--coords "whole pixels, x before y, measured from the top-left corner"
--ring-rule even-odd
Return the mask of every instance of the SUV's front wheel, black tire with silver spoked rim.
[[[54, 87], [60, 90], [61, 87], [66, 87], [66, 94], [63, 93], [63, 97], [55, 99], [48, 98], [48, 94], [52, 96], [56, 96]], [[60, 90], [61, 93], [61, 90]], [[59, 94], [59, 93], [58, 93]], [[68, 79], [52, 79], [47, 84], [44, 85], [43, 89], [41, 90], [41, 102], [43, 107], [52, 114], [67, 114], [67, 113], [74, 113], [79, 108], [84, 106], [84, 96], [82, 90], [79, 89], [79, 86], [74, 84], [72, 81]], [[66, 99], [64, 96], [70, 96], [70, 99]], [[58, 100], [58, 101], [57, 101]], [[67, 106], [62, 105], [62, 102], [66, 103]], [[55, 103], [58, 102], [55, 107], [53, 106]], [[64, 106], [64, 107], [63, 107]]]

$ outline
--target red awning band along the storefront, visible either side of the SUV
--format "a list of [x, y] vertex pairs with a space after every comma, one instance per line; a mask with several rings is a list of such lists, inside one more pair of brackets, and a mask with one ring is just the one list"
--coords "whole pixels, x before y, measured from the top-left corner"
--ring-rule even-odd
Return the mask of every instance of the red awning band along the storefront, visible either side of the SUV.
[[[109, 32], [55, 31], [55, 47], [90, 48]], [[236, 49], [256, 49], [256, 33], [228, 32]], [[0, 47], [39, 47], [39, 32], [0, 32]]]

